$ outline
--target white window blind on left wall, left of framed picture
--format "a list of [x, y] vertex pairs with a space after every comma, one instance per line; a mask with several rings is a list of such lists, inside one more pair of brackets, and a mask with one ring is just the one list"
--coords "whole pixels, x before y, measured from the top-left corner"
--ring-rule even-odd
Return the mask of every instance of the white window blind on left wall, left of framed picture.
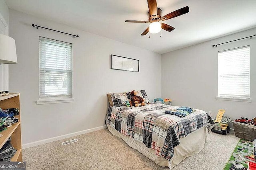
[[72, 96], [72, 44], [40, 37], [40, 97]]

